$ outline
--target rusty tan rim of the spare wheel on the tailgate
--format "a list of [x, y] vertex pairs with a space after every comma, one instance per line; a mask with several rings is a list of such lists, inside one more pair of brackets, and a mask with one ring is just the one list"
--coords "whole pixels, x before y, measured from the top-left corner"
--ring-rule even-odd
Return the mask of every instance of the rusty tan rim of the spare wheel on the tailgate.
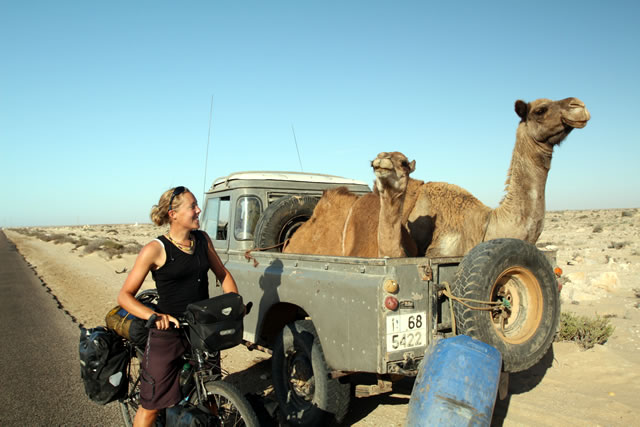
[[542, 287], [524, 267], [509, 268], [491, 288], [491, 301], [506, 299], [510, 308], [493, 312], [492, 325], [503, 341], [521, 344], [531, 338], [542, 322]]

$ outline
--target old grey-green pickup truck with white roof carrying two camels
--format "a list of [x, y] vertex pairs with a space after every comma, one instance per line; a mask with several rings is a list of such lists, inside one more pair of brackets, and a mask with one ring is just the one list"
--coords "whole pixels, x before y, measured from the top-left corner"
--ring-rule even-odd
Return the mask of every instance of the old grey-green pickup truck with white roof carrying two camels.
[[[289, 423], [340, 422], [352, 386], [357, 396], [390, 391], [393, 380], [416, 375], [438, 338], [466, 334], [495, 346], [507, 373], [544, 356], [559, 319], [558, 286], [529, 243], [498, 239], [448, 258], [282, 253], [323, 191], [340, 186], [371, 191], [331, 175], [238, 172], [216, 179], [203, 203], [203, 229], [254, 303], [244, 340], [272, 353]], [[212, 296], [221, 292], [215, 277], [210, 283]]]

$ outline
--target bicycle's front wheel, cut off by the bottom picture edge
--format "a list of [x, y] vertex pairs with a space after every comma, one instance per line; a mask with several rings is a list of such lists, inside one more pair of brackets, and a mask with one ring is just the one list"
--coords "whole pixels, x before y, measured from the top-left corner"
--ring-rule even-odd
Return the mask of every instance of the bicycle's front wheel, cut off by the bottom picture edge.
[[209, 408], [220, 419], [220, 425], [259, 427], [258, 416], [249, 401], [234, 385], [223, 381], [210, 381], [205, 384]]

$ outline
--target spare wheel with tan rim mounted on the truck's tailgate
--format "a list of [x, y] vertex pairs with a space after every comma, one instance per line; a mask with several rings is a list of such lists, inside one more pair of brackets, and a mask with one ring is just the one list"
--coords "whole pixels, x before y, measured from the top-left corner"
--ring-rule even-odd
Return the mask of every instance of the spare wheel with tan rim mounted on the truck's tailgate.
[[560, 318], [558, 285], [549, 261], [531, 243], [480, 243], [462, 259], [451, 290], [457, 297], [508, 301], [502, 313], [453, 303], [458, 333], [497, 348], [506, 372], [530, 368], [549, 350]]

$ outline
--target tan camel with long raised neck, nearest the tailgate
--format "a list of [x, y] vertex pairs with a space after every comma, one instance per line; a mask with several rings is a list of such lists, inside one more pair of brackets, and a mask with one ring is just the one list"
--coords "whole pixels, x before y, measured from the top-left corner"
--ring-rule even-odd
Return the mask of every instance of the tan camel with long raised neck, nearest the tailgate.
[[553, 148], [591, 118], [577, 98], [516, 101], [521, 121], [505, 183], [506, 195], [491, 209], [468, 191], [442, 182], [425, 183], [413, 203], [408, 227], [418, 253], [462, 256], [478, 243], [511, 237], [535, 243], [542, 233], [545, 186]]

